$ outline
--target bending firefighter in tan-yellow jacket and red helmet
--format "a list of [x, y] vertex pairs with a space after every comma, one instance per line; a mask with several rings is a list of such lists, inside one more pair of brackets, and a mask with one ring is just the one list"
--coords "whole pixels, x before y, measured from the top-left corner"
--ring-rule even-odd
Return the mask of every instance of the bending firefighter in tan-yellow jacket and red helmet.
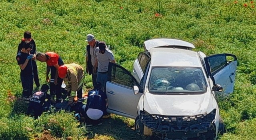
[[66, 84], [66, 90], [70, 93], [68, 104], [73, 104], [74, 97], [78, 97], [78, 103], [82, 103], [82, 88], [84, 85], [84, 68], [78, 64], [64, 64], [58, 69], [59, 77]]

